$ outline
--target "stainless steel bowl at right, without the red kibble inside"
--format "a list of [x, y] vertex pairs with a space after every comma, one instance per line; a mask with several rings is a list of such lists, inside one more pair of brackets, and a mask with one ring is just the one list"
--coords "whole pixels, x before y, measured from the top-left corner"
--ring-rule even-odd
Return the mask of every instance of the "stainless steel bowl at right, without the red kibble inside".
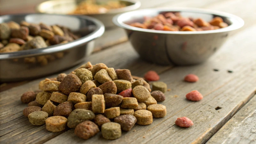
[[[208, 31], [159, 31], [132, 27], [143, 22], [143, 17], [154, 17], [162, 12], [180, 12], [183, 17], [210, 21], [219, 16], [228, 27]], [[197, 8], [142, 9], [116, 15], [113, 22], [124, 28], [134, 49], [144, 60], [161, 65], [194, 65], [207, 60], [227, 40], [230, 31], [241, 28], [244, 21], [226, 12]]]

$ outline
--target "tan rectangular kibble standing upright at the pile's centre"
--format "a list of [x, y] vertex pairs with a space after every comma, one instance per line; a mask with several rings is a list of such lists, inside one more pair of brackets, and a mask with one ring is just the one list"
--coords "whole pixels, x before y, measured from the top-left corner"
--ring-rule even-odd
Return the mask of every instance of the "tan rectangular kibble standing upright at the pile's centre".
[[92, 111], [94, 113], [104, 113], [105, 100], [103, 94], [92, 95]]

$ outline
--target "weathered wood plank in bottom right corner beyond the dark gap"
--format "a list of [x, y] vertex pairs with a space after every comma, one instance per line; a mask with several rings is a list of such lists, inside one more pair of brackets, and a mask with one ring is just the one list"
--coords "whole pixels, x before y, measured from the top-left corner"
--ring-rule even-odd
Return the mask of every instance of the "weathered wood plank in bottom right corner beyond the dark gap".
[[206, 144], [256, 143], [256, 95]]

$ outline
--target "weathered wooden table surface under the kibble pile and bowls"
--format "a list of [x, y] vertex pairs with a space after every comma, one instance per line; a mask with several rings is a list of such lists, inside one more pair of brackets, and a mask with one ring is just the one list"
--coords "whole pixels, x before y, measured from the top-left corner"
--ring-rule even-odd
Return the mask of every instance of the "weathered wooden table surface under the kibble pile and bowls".
[[[99, 49], [85, 61], [103, 62], [108, 67], [130, 69], [132, 75], [143, 76], [155, 70], [160, 80], [171, 91], [165, 93], [161, 104], [167, 108], [164, 118], [154, 118], [148, 126], [135, 125], [123, 132], [117, 140], [105, 140], [101, 133], [89, 140], [75, 136], [74, 129], [65, 132], [48, 132], [45, 125], [33, 126], [22, 111], [27, 107], [20, 96], [29, 90], [37, 90], [44, 78], [23, 82], [0, 93], [0, 142], [1, 143], [256, 143], [256, 1], [255, 0], [142, 0], [146, 7], [198, 7], [235, 14], [244, 19], [243, 28], [236, 30], [223, 47], [203, 64], [188, 67], [157, 66], [140, 60], [139, 55], [126, 41], [124, 31], [110, 29], [104, 34], [114, 34], [112, 41], [98, 41]], [[120, 38], [123, 39], [120, 43]], [[109, 43], [110, 42], [110, 43]], [[107, 45], [107, 46], [106, 46]], [[101, 48], [107, 48], [101, 50]], [[78, 66], [76, 66], [78, 67]], [[213, 69], [219, 69], [214, 71]], [[74, 68], [72, 68], [74, 69]], [[65, 73], [72, 71], [69, 69]], [[232, 70], [232, 73], [228, 72]], [[199, 76], [196, 83], [186, 83], [186, 74]], [[56, 77], [57, 74], [47, 76]], [[5, 84], [8, 85], [8, 84]], [[1, 89], [4, 86], [0, 87]], [[188, 101], [186, 93], [198, 90], [204, 99]], [[186, 116], [194, 122], [190, 128], [175, 125], [177, 117]], [[136, 131], [135, 131], [136, 130]]]

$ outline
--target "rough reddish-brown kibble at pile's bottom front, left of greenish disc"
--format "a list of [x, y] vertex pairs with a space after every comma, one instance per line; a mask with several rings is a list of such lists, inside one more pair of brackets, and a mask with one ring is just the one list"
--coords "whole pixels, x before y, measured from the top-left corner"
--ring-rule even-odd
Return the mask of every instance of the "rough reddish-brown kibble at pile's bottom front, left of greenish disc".
[[75, 128], [75, 135], [79, 138], [87, 140], [100, 132], [98, 125], [91, 121], [84, 121]]

